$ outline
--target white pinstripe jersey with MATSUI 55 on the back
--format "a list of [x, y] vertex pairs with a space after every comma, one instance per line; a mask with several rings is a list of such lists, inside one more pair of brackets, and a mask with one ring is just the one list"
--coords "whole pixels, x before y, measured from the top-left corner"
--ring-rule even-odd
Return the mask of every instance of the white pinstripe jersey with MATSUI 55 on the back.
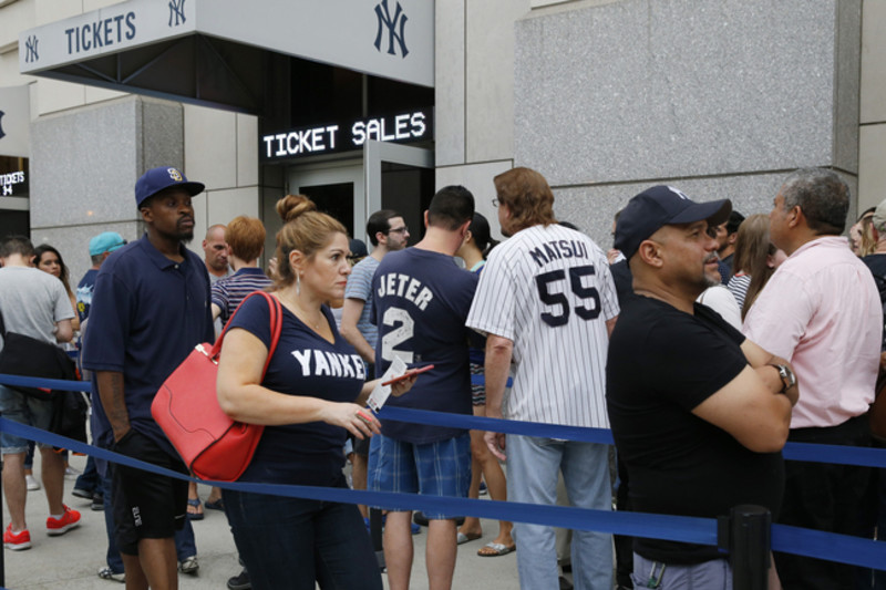
[[549, 225], [518, 231], [490, 253], [467, 325], [514, 342], [505, 417], [606, 428], [606, 320], [618, 315], [606, 253]]

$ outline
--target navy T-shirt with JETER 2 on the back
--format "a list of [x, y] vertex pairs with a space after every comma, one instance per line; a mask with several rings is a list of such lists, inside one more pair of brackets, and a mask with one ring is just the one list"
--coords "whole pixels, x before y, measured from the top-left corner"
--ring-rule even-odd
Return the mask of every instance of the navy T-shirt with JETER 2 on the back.
[[[412, 389], [385, 405], [472, 414], [471, 372], [464, 322], [477, 276], [459, 268], [451, 256], [408, 248], [388, 253], [372, 279], [372, 318], [379, 327], [375, 374], [395, 356], [408, 366], [433, 364]], [[408, 443], [444, 441], [459, 428], [381, 421], [382, 434]]]

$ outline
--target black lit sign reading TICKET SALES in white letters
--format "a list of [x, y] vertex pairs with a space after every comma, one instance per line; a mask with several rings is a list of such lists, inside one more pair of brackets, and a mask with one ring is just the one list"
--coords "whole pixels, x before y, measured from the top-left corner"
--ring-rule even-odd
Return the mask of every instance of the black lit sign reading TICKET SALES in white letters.
[[260, 138], [259, 154], [264, 162], [274, 162], [360, 149], [367, 139], [412, 143], [432, 138], [432, 110], [422, 108], [269, 133]]

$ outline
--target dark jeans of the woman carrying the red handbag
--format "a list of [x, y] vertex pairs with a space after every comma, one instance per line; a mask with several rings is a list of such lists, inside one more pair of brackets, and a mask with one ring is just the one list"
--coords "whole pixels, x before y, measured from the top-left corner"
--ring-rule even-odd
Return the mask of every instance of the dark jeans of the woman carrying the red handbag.
[[222, 496], [255, 590], [382, 589], [357, 506], [230, 489]]

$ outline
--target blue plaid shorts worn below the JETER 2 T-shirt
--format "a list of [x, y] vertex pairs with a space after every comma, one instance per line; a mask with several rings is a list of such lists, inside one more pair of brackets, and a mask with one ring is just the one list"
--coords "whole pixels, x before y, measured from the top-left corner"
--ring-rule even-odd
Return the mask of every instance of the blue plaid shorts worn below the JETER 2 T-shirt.
[[[426, 445], [373, 436], [369, 454], [369, 489], [467, 497], [471, 486], [471, 435], [467, 433]], [[432, 520], [455, 518], [455, 515], [424, 514]]]

